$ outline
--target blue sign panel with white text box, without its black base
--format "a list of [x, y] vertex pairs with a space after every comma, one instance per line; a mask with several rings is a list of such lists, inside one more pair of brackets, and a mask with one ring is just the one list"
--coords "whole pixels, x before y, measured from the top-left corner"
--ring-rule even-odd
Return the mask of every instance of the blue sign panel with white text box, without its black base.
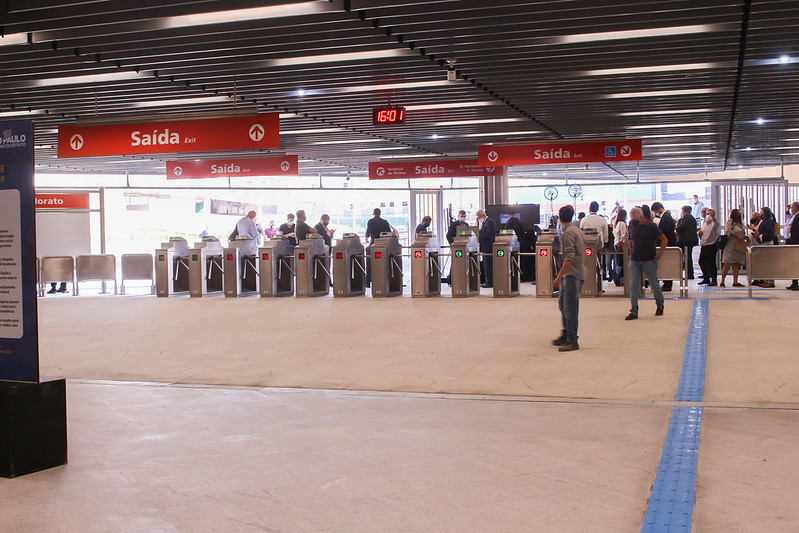
[[0, 381], [39, 381], [33, 123], [0, 122]]

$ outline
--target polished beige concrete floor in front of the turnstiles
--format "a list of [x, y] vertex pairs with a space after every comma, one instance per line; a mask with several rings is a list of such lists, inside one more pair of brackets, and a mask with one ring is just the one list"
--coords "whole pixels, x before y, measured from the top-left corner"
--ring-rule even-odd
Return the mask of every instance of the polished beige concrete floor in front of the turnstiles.
[[639, 531], [693, 298], [710, 300], [693, 530], [799, 530], [799, 294], [692, 284], [626, 322], [608, 288], [563, 354], [532, 290], [40, 299], [70, 462], [0, 479], [0, 531]]

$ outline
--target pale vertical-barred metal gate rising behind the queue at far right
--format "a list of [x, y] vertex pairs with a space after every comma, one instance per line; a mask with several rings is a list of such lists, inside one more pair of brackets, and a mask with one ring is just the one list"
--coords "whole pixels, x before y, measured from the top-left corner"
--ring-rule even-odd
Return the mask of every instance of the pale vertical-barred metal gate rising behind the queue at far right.
[[[777, 222], [785, 223], [785, 210], [791, 201], [788, 181], [784, 179], [713, 181], [711, 200], [716, 218], [723, 224], [730, 211], [740, 209], [745, 224], [761, 207], [769, 207]], [[793, 191], [791, 191], [793, 192]]]

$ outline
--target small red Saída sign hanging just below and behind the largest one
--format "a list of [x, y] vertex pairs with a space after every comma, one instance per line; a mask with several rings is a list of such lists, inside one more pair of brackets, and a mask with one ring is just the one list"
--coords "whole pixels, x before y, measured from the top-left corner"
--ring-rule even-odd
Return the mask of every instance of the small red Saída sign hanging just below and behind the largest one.
[[166, 179], [235, 178], [237, 176], [296, 176], [298, 157], [258, 157], [248, 159], [212, 159], [204, 161], [167, 161]]

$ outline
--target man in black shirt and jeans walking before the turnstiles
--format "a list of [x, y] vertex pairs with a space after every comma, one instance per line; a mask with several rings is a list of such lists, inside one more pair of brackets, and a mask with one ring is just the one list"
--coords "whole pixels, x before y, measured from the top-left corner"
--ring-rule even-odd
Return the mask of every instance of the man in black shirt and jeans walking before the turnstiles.
[[[638, 318], [638, 292], [641, 287], [641, 273], [646, 274], [649, 286], [655, 295], [657, 310], [655, 315], [663, 314], [663, 292], [658, 283], [658, 261], [663, 255], [669, 241], [660, 228], [644, 216], [640, 207], [630, 210], [630, 229], [629, 239], [632, 244], [630, 254], [629, 276], [630, 276], [630, 314], [625, 320], [635, 320]], [[660, 249], [657, 243], [660, 241]]]

